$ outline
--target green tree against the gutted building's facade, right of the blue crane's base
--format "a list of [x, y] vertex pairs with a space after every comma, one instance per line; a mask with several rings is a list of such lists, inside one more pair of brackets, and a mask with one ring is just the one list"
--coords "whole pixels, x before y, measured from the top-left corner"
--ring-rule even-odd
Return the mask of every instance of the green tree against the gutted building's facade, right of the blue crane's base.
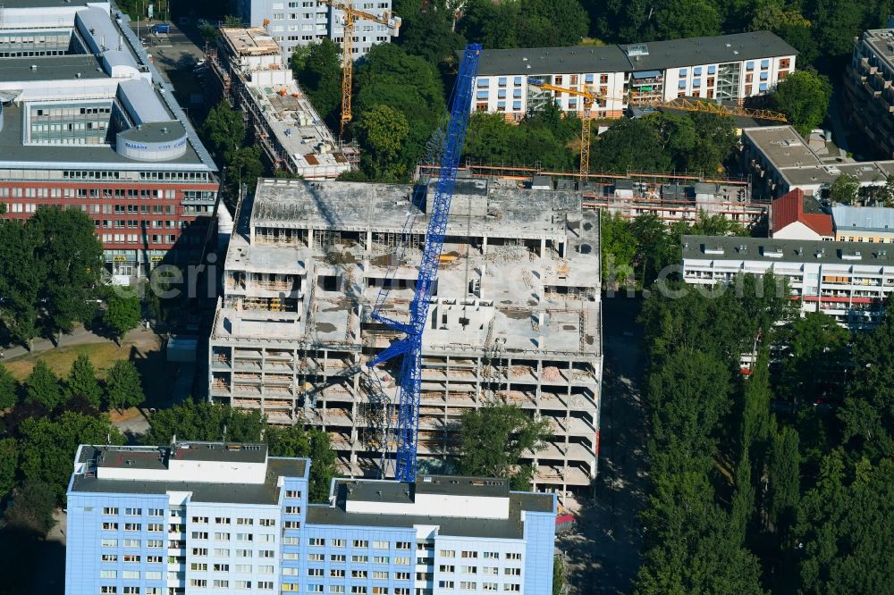
[[534, 469], [519, 465], [519, 458], [549, 435], [548, 422], [517, 406], [488, 403], [468, 411], [460, 422], [460, 473], [510, 478], [513, 490], [527, 490]]

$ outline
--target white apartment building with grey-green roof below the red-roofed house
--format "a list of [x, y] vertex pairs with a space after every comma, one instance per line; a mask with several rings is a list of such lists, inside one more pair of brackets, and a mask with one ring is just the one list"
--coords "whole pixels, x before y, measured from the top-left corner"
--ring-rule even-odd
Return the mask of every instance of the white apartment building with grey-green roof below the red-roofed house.
[[870, 328], [881, 320], [885, 299], [894, 291], [894, 247], [683, 236], [683, 279], [687, 283], [713, 286], [731, 283], [739, 273], [767, 272], [789, 280], [802, 312], [834, 316], [850, 329]]

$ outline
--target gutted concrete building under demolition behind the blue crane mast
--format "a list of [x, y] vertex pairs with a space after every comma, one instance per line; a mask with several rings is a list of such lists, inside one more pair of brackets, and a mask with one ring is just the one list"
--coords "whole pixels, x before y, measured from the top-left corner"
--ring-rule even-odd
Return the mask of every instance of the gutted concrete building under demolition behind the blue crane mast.
[[[431, 186], [259, 180], [209, 340], [211, 398], [329, 433], [342, 473], [389, 476], [395, 365], [366, 364], [407, 320]], [[463, 413], [499, 402], [550, 423], [519, 462], [561, 499], [596, 473], [602, 378], [599, 212], [574, 190], [457, 180], [420, 359], [418, 464], [441, 469]], [[399, 248], [395, 251], [395, 248]], [[391, 273], [389, 273], [391, 271]]]

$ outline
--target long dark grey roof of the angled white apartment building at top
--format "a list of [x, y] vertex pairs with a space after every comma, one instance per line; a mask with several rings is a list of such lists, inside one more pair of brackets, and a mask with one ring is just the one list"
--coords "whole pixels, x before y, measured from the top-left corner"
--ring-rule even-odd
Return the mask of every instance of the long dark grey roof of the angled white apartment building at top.
[[797, 50], [770, 31], [706, 38], [674, 39], [623, 46], [485, 49], [478, 73], [546, 74], [655, 71], [698, 64], [740, 62], [796, 55]]

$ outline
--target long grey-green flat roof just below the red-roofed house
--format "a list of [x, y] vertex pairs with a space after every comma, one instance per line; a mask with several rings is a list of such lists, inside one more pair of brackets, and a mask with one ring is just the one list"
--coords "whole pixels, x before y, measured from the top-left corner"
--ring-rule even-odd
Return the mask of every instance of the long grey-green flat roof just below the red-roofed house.
[[820, 239], [683, 236], [683, 260], [894, 266], [894, 246]]

